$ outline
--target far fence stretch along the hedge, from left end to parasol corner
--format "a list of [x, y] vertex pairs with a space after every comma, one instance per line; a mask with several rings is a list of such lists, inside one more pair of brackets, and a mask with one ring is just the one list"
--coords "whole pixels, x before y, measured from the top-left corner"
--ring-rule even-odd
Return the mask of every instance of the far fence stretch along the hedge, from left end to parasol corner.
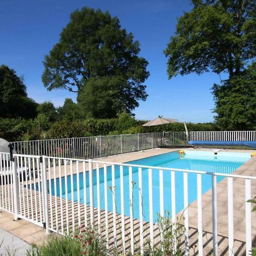
[[18, 154], [91, 159], [161, 146], [162, 133], [121, 134], [97, 137], [11, 142]]

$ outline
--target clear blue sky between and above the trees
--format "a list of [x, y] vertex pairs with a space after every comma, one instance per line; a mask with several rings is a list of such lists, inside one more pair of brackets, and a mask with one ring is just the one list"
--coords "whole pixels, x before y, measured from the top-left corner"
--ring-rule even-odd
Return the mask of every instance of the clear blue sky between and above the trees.
[[76, 99], [75, 93], [48, 92], [44, 88], [42, 61], [58, 42], [62, 28], [69, 22], [69, 14], [83, 6], [109, 10], [141, 43], [141, 56], [149, 61], [151, 75], [146, 81], [147, 101], [140, 102], [134, 111], [137, 118], [154, 119], [163, 115], [179, 121], [213, 121], [214, 102], [210, 88], [220, 81], [218, 75], [209, 72], [171, 80], [167, 76], [163, 50], [174, 35], [177, 18], [192, 7], [187, 0], [1, 0], [0, 64], [24, 76], [29, 97], [36, 102], [50, 100], [55, 106], [62, 105], [67, 97]]

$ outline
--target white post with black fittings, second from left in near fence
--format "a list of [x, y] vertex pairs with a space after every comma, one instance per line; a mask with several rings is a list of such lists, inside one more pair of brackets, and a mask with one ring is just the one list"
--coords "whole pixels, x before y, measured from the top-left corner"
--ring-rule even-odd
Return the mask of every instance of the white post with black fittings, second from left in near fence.
[[44, 228], [46, 228], [46, 234], [50, 233], [49, 230], [49, 208], [48, 208], [48, 193], [47, 193], [47, 174], [46, 174], [46, 156], [40, 157], [42, 162], [42, 196], [43, 196], [43, 210], [44, 210]]

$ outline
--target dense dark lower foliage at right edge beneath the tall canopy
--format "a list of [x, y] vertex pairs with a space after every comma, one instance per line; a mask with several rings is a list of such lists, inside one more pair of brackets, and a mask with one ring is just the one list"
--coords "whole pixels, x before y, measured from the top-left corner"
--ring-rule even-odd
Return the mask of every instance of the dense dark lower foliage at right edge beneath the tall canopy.
[[227, 130], [256, 130], [256, 63], [213, 85], [217, 124]]

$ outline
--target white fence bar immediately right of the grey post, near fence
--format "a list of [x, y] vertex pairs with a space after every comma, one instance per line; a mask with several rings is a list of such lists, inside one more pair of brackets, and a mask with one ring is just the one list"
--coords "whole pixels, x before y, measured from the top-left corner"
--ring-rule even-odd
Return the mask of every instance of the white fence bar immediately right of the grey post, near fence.
[[234, 249], [234, 216], [233, 216], [233, 178], [228, 177], [228, 228], [229, 228], [229, 256], [233, 256]]

